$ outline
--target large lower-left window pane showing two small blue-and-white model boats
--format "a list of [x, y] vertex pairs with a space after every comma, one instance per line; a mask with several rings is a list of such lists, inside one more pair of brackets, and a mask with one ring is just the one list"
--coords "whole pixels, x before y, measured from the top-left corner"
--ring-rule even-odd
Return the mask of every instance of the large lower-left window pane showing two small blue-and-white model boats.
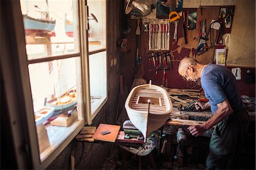
[[30, 64], [28, 71], [43, 158], [45, 152], [51, 152], [67, 137], [72, 125], [81, 118], [80, 57]]

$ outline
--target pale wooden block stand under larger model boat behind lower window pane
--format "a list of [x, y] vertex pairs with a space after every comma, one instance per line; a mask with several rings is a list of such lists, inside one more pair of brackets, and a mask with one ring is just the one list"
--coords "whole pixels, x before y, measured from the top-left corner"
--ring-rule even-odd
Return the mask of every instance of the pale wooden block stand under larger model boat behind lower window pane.
[[68, 126], [71, 125], [71, 123], [73, 123], [76, 119], [77, 119], [77, 113], [71, 114], [70, 117], [64, 116], [64, 115], [60, 115], [59, 117], [57, 117], [56, 119], [54, 119], [53, 121], [51, 121], [51, 125], [53, 125], [53, 126], [64, 126], [64, 127], [68, 127]]

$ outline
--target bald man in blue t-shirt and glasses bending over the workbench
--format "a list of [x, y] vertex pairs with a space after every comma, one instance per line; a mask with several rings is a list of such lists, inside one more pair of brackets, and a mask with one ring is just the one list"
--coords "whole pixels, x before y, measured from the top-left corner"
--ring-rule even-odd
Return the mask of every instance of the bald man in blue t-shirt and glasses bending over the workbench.
[[188, 57], [180, 61], [179, 74], [187, 81], [201, 80], [209, 102], [196, 102], [196, 109], [210, 107], [212, 118], [203, 125], [188, 127], [200, 136], [214, 125], [210, 139], [206, 169], [237, 169], [238, 156], [247, 135], [249, 115], [242, 103], [236, 78], [228, 68], [216, 64], [200, 64]]

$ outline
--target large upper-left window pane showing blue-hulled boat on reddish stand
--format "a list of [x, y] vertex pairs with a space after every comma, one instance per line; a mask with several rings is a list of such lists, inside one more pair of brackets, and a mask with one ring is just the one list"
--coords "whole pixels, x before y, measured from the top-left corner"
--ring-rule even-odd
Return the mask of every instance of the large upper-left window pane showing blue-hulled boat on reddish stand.
[[20, 6], [28, 60], [79, 52], [77, 1], [20, 0]]

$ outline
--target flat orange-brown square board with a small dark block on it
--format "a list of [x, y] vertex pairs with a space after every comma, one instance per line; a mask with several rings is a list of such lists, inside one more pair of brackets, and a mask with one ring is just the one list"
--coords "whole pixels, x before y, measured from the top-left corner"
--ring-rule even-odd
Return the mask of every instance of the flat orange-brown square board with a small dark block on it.
[[[95, 140], [102, 140], [106, 142], [115, 142], [115, 139], [117, 139], [118, 132], [120, 130], [121, 126], [118, 125], [108, 125], [101, 123], [98, 128], [96, 129], [96, 132], [93, 134], [93, 139]], [[102, 135], [101, 132], [104, 131], [110, 131], [110, 134]]]

